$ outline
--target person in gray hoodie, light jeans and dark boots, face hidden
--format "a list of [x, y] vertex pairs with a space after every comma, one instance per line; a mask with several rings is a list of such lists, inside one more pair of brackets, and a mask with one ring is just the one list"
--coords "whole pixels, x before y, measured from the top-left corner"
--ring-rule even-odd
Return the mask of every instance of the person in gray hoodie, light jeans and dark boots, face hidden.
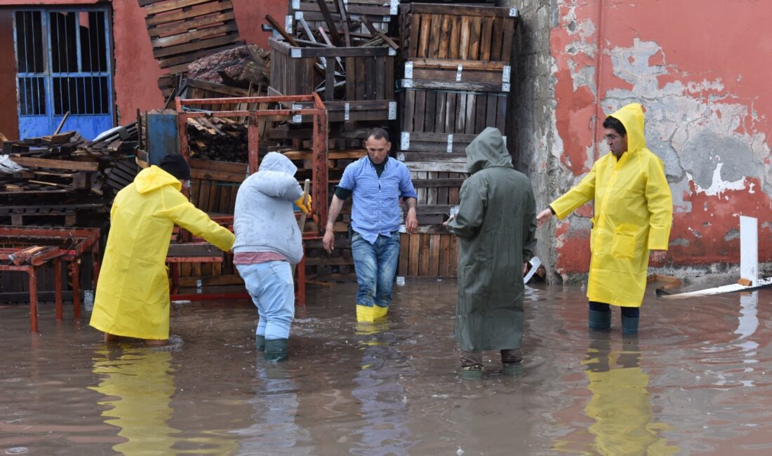
[[295, 179], [289, 158], [270, 152], [259, 170], [247, 177], [236, 195], [233, 216], [233, 264], [244, 279], [260, 316], [256, 346], [266, 360], [287, 356], [289, 325], [295, 316], [292, 265], [303, 259], [303, 242], [293, 201], [310, 211], [310, 196]]

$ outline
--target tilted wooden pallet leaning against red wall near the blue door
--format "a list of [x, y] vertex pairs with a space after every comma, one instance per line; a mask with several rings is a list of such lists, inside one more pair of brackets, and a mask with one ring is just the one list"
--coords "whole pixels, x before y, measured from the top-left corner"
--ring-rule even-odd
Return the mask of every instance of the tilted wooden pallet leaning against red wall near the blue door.
[[158, 86], [169, 96], [175, 73], [186, 73], [188, 63], [244, 44], [239, 38], [231, 0], [138, 0], [144, 8], [153, 56], [167, 76]]

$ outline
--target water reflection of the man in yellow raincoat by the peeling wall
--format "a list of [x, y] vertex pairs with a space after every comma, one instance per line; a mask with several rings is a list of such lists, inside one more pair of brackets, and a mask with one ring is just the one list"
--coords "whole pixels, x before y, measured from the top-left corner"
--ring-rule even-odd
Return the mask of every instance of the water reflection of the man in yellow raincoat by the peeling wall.
[[[679, 447], [669, 445], [662, 431], [669, 425], [655, 421], [648, 394], [648, 374], [640, 367], [637, 337], [625, 338], [621, 350], [611, 349], [608, 334], [593, 336], [582, 362], [592, 396], [584, 414], [594, 420], [589, 427], [560, 439], [555, 449], [571, 451], [584, 442], [582, 453], [675, 454]], [[585, 434], [585, 433], [588, 433]], [[590, 443], [591, 442], [591, 443]], [[587, 448], [589, 447], [589, 448]]]

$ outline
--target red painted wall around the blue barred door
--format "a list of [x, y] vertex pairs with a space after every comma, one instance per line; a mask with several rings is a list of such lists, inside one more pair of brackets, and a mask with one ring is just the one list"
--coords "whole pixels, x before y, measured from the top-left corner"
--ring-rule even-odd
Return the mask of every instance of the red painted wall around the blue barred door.
[[[262, 32], [262, 24], [266, 14], [273, 15], [283, 23], [286, 15], [286, 1], [276, 0], [232, 0], [239, 34], [246, 42], [268, 47], [269, 33]], [[113, 86], [118, 123], [128, 123], [137, 116], [137, 109], [151, 110], [162, 107], [164, 99], [158, 89], [158, 76], [164, 74], [153, 57], [150, 37], [144, 23], [144, 11], [136, 0], [120, 0], [113, 2], [98, 2], [97, 0], [13, 0], [3, 2], [10, 5], [12, 11], [16, 7], [40, 5], [112, 5], [113, 8]], [[13, 49], [13, 35], [8, 25], [0, 17], [0, 56], [5, 56], [7, 39], [10, 37], [10, 49]], [[13, 59], [3, 60], [13, 62]], [[13, 73], [9, 76], [0, 71], [2, 87], [14, 87]], [[10, 84], [10, 85], [9, 85]], [[2, 93], [2, 89], [0, 89]], [[16, 122], [16, 123], [13, 123]], [[18, 134], [16, 106], [10, 103], [0, 107], [0, 131], [12, 131], [12, 136]], [[8, 135], [8, 133], [5, 133]], [[9, 135], [10, 136], [10, 135]]]

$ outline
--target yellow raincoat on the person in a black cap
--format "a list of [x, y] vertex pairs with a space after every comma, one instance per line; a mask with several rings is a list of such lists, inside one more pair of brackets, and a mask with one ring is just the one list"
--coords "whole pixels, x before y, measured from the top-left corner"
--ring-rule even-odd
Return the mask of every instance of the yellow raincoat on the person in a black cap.
[[166, 253], [174, 224], [230, 250], [233, 233], [195, 208], [180, 181], [160, 167], [142, 170], [119, 191], [100, 270], [91, 326], [139, 339], [168, 339]]

